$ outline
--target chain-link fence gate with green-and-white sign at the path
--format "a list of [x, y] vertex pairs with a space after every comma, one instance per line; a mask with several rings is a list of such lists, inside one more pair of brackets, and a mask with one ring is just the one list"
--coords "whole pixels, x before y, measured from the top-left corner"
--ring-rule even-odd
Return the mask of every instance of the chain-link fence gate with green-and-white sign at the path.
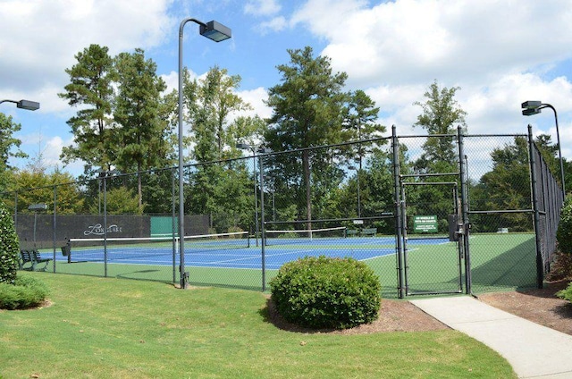
[[463, 247], [455, 181], [401, 181], [406, 295], [462, 293]]

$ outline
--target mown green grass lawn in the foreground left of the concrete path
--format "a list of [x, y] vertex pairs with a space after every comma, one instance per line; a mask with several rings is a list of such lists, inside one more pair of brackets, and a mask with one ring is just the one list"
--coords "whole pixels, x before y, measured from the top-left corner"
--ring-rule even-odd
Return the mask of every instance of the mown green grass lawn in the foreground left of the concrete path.
[[507, 378], [506, 360], [462, 333], [337, 335], [276, 328], [257, 291], [35, 275], [52, 305], [0, 310], [6, 378]]

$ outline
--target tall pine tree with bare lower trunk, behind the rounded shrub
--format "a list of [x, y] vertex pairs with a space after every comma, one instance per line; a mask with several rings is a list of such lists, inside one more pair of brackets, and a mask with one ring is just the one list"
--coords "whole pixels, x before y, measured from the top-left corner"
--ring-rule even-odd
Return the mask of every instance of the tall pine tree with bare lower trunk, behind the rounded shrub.
[[[266, 104], [273, 108], [265, 139], [274, 150], [288, 150], [336, 142], [341, 133], [341, 109], [348, 96], [342, 92], [348, 77], [332, 74], [330, 58], [313, 57], [313, 50], [288, 50], [290, 64], [281, 64], [282, 83], [269, 88]], [[315, 159], [318, 168], [327, 159]], [[302, 152], [302, 183], [306, 189], [307, 220], [312, 219], [310, 159]]]

